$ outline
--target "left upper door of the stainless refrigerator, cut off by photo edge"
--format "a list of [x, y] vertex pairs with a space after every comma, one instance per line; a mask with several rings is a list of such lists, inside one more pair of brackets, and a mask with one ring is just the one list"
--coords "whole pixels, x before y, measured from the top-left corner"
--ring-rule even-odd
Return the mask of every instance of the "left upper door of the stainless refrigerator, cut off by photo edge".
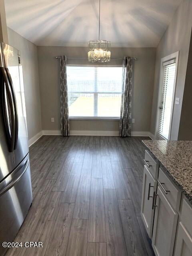
[[[12, 119], [10, 116], [12, 98], [9, 91], [10, 88], [8, 87], [8, 84], [6, 85], [4, 82], [4, 76], [2, 72], [3, 63], [2, 52], [0, 50], [0, 181], [14, 169], [13, 153], [10, 152], [12, 138], [11, 133], [13, 132], [11, 120], [14, 122], [14, 119]], [[12, 114], [14, 114], [13, 109]]]

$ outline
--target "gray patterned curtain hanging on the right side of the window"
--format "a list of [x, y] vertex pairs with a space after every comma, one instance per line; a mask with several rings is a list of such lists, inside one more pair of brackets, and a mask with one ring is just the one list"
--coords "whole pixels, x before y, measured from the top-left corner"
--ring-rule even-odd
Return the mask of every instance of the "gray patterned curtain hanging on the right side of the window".
[[131, 136], [131, 91], [132, 91], [132, 60], [123, 58], [122, 98], [119, 122], [119, 136]]

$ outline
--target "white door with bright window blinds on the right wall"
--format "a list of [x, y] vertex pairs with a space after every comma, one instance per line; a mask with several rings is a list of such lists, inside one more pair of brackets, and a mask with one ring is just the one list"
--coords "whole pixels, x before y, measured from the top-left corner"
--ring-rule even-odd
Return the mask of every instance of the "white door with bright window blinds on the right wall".
[[176, 59], [163, 62], [161, 73], [156, 137], [157, 139], [170, 140], [175, 94]]

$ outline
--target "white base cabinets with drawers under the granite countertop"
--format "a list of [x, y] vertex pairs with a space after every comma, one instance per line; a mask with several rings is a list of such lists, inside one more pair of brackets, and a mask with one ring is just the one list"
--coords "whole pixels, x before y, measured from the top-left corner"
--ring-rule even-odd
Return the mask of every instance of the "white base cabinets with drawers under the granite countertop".
[[192, 204], [157, 158], [144, 158], [141, 216], [156, 256], [192, 256]]

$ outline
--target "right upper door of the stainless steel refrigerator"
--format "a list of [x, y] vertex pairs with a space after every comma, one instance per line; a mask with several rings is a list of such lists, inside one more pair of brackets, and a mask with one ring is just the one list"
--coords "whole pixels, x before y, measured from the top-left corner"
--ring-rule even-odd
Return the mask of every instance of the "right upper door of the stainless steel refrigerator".
[[1, 43], [4, 67], [12, 90], [15, 111], [14, 162], [17, 166], [28, 154], [28, 135], [24, 84], [20, 51], [8, 44]]

